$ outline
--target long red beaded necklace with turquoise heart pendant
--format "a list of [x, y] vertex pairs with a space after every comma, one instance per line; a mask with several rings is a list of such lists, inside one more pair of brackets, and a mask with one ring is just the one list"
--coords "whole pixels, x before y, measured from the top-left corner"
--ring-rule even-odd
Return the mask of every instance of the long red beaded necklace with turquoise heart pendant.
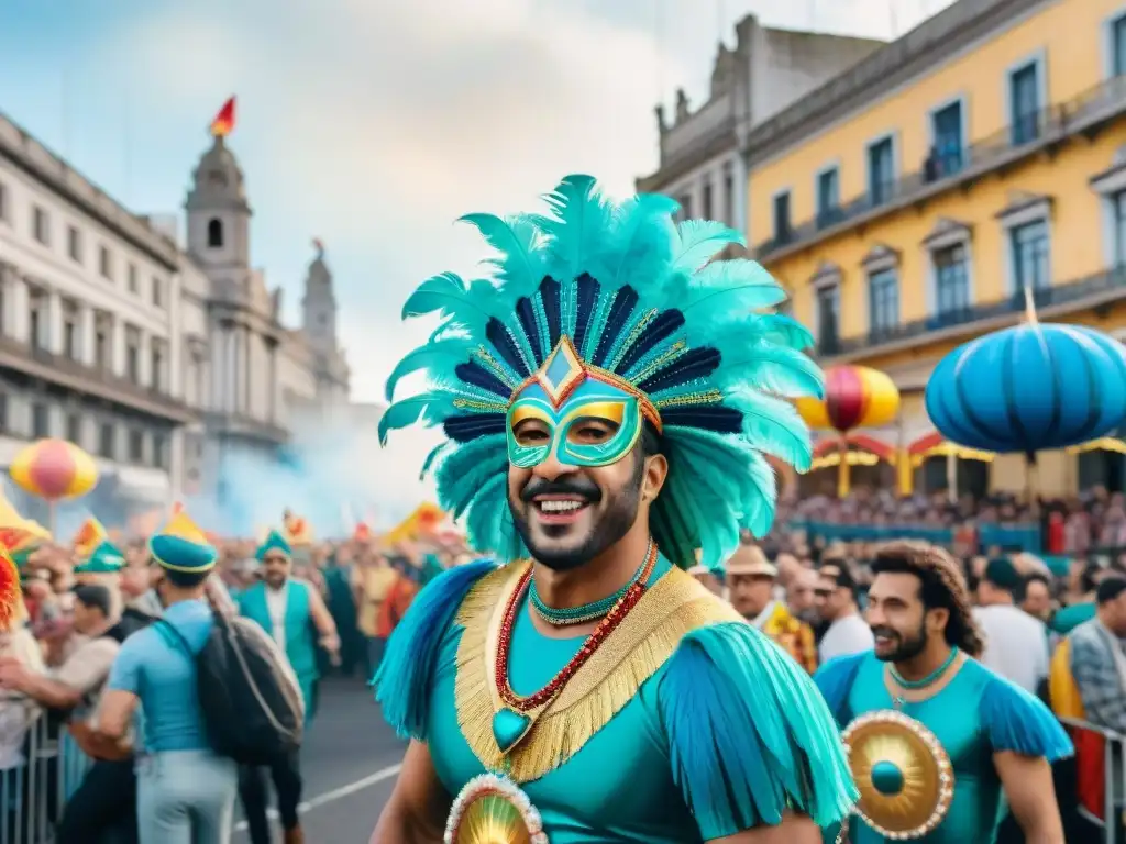
[[531, 584], [531, 567], [520, 576], [520, 582], [513, 590], [504, 614], [501, 619], [500, 637], [497, 643], [497, 657], [493, 664], [493, 676], [495, 677], [497, 691], [504, 706], [493, 716], [493, 736], [500, 747], [501, 753], [508, 753], [522, 739], [533, 725], [533, 710], [540, 710], [563, 691], [563, 686], [574, 676], [606, 638], [614, 632], [615, 628], [629, 611], [637, 605], [637, 601], [645, 594], [646, 583], [653, 568], [656, 566], [656, 545], [650, 542], [649, 554], [645, 564], [641, 568], [641, 575], [636, 577], [617, 600], [606, 617], [598, 622], [598, 627], [587, 637], [587, 640], [579, 648], [570, 662], [548, 681], [539, 691], [522, 697], [517, 694], [512, 684], [508, 680], [509, 654], [512, 645], [512, 629], [516, 625], [516, 616], [520, 609], [520, 601], [525, 591]]

